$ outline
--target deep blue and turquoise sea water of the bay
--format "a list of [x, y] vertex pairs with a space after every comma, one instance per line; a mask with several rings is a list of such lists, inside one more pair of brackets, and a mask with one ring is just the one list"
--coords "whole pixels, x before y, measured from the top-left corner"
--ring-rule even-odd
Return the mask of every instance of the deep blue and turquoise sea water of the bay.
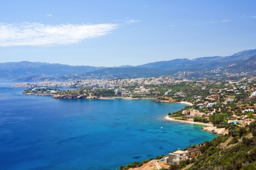
[[59, 100], [11, 84], [0, 81], [1, 169], [119, 169], [216, 136], [162, 119], [184, 104]]

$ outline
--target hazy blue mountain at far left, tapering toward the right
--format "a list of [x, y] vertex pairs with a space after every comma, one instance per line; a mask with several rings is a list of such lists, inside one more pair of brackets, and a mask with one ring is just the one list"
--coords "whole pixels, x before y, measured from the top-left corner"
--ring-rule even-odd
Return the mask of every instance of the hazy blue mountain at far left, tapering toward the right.
[[71, 66], [65, 64], [50, 64], [41, 62], [7, 62], [0, 63], [0, 79], [17, 79], [26, 76], [59, 77], [63, 75], [76, 74], [78, 72], [89, 72], [106, 67], [93, 66]]

